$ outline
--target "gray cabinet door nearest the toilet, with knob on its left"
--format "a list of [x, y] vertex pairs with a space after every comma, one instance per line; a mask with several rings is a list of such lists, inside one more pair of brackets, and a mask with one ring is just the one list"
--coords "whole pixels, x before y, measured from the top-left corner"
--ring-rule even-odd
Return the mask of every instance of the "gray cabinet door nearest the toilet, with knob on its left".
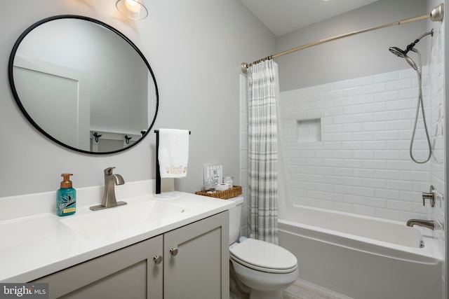
[[167, 232], [163, 250], [163, 298], [229, 298], [228, 211]]

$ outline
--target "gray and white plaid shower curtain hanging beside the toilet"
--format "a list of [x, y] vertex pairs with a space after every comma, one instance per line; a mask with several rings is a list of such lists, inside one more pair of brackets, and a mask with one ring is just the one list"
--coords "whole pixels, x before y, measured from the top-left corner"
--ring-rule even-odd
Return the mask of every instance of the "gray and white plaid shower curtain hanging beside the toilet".
[[248, 228], [278, 244], [277, 79], [272, 60], [248, 68]]

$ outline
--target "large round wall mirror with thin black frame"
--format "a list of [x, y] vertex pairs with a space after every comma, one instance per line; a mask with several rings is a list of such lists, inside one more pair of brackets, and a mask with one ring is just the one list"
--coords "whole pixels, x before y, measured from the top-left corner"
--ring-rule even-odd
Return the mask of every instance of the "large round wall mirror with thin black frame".
[[99, 20], [58, 15], [36, 22], [15, 43], [8, 68], [25, 117], [72, 150], [124, 151], [156, 120], [159, 95], [149, 63]]

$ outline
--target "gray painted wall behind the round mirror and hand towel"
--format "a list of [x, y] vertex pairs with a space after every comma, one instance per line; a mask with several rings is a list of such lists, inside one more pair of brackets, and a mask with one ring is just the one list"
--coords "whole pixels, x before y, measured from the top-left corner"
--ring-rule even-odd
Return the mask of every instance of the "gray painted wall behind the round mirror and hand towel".
[[[154, 128], [192, 131], [189, 172], [177, 190], [194, 192], [203, 165], [220, 163], [239, 177], [240, 63], [276, 50], [276, 39], [237, 0], [147, 1], [149, 16], [122, 18], [107, 0], [18, 0], [5, 2], [0, 33], [0, 197], [56, 190], [60, 174], [74, 174], [75, 188], [100, 186], [103, 169], [116, 167], [126, 181], [155, 178], [154, 133], [114, 155], [69, 151], [43, 137], [15, 104], [8, 84], [8, 57], [18, 36], [51, 15], [86, 15], [126, 34], [145, 54], [159, 87]], [[247, 36], [252, 36], [248, 43]]]

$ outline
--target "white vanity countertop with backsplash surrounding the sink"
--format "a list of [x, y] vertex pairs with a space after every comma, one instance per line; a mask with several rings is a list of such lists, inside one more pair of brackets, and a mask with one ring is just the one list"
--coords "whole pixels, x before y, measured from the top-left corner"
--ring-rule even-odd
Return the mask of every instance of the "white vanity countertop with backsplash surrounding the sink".
[[[149, 180], [126, 183], [124, 188], [116, 186], [117, 201], [124, 200], [128, 204], [100, 211], [91, 211], [89, 207], [100, 204], [102, 186], [77, 189], [76, 214], [64, 217], [55, 214], [55, 192], [0, 198], [0, 281], [32, 281], [235, 206], [230, 200], [190, 193], [155, 198], [153, 185], [154, 181]], [[185, 207], [185, 211], [163, 221], [145, 221], [92, 236], [79, 233], [64, 223], [65, 219], [81, 219], [90, 214], [114, 212], [120, 215], [124, 209], [151, 200]], [[93, 223], [93, 232], [95, 226], [98, 223]]]

